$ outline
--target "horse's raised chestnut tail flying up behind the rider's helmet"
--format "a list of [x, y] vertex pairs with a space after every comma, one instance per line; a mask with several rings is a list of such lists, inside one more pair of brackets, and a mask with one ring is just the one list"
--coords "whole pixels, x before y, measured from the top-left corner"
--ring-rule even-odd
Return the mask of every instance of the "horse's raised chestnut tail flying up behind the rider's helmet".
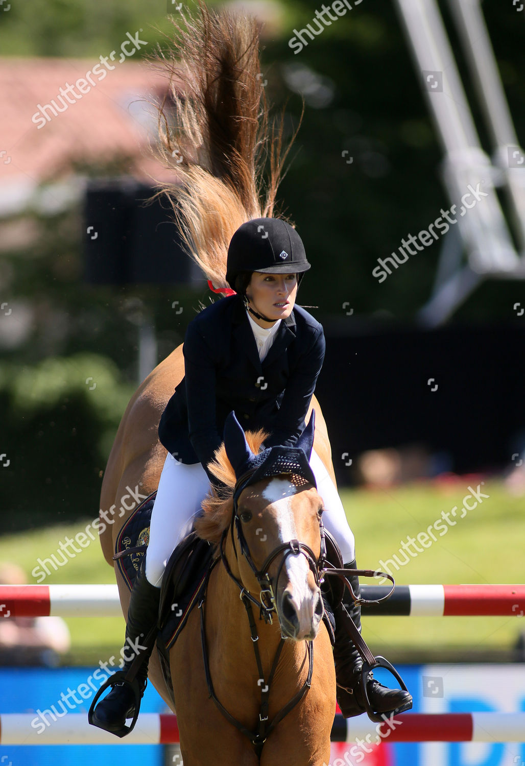
[[155, 196], [168, 197], [185, 249], [219, 287], [226, 286], [234, 232], [251, 218], [274, 215], [284, 160], [298, 128], [283, 149], [282, 116], [278, 126], [270, 126], [268, 117], [258, 21], [225, 8], [208, 9], [200, 0], [199, 11], [198, 18], [181, 14], [185, 28], [171, 17], [176, 37], [152, 60], [169, 74], [166, 96], [156, 104], [158, 153], [180, 181], [158, 184]]

